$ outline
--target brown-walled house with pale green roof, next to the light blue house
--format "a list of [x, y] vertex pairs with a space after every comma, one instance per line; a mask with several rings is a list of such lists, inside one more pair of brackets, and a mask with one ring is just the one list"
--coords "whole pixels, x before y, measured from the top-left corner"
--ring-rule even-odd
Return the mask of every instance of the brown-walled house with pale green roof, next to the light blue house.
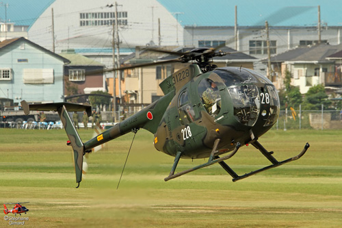
[[[70, 62], [64, 66], [64, 94], [90, 94], [90, 92], [106, 91], [104, 65], [75, 53], [74, 49], [67, 49], [60, 54]], [[86, 102], [86, 97], [79, 97], [77, 102]]]

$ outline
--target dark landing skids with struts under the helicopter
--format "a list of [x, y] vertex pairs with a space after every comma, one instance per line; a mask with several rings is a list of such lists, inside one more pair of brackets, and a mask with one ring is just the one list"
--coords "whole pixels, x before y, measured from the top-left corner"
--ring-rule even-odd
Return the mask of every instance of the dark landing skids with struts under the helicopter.
[[226, 164], [226, 162], [224, 162], [224, 160], [228, 160], [229, 158], [233, 157], [233, 155], [235, 155], [235, 153], [237, 153], [237, 150], [241, 147], [241, 144], [239, 142], [237, 142], [234, 151], [232, 151], [231, 153], [229, 153], [228, 155], [226, 155], [224, 157], [219, 157], [218, 155], [215, 155], [215, 153], [218, 153], [218, 151], [216, 149], [218, 148], [219, 142], [220, 142], [220, 139], [216, 139], [215, 140], [214, 146], [213, 146], [213, 150], [211, 151], [211, 155], [209, 157], [208, 162], [206, 162], [205, 164], [201, 164], [199, 166], [195, 166], [194, 168], [189, 168], [187, 170], [183, 170], [180, 173], [174, 174], [174, 171], [176, 170], [176, 166], [177, 166], [177, 164], [179, 162], [179, 159], [181, 158], [181, 152], [177, 152], [176, 153], [176, 157], [174, 158], [174, 164], [172, 166], [170, 175], [168, 177], [166, 177], [164, 180], [168, 181], [170, 179], [174, 179], [176, 177], [180, 177], [181, 175], [185, 175], [186, 173], [190, 173], [190, 172], [192, 172], [194, 170], [198, 170], [200, 168], [204, 168], [204, 167], [207, 167], [207, 166], [211, 166], [212, 164], [218, 163], [218, 164], [220, 164], [222, 166], [222, 168], [224, 168], [224, 170], [226, 170], [226, 172], [229, 175], [231, 175], [233, 177], [232, 180], [233, 180], [233, 182], [235, 182], [235, 181], [238, 181], [239, 179], [244, 179], [244, 178], [250, 177], [250, 176], [252, 176], [254, 174], [261, 173], [261, 172], [263, 172], [263, 171], [265, 171], [267, 169], [275, 168], [275, 167], [281, 166], [283, 164], [286, 164], [288, 162], [293, 162], [295, 160], [298, 160], [308, 150], [308, 147], [310, 147], [310, 144], [308, 144], [306, 142], [305, 147], [302, 150], [302, 152], [300, 152], [300, 154], [298, 154], [297, 156], [294, 156], [294, 157], [290, 157], [287, 160], [283, 160], [281, 162], [278, 162], [276, 160], [276, 158], [272, 156], [272, 154], [273, 154], [272, 151], [271, 152], [267, 151], [257, 140], [254, 140], [254, 142], [252, 142], [252, 145], [255, 148], [257, 148], [269, 160], [269, 162], [272, 162], [272, 165], [265, 166], [265, 167], [260, 168], [258, 170], [254, 170], [254, 171], [252, 171], [250, 173], [246, 173], [244, 175], [240, 175], [239, 176], [239, 175], [237, 175], [237, 173], [235, 173], [235, 171], [231, 167], [228, 166], [228, 164]]

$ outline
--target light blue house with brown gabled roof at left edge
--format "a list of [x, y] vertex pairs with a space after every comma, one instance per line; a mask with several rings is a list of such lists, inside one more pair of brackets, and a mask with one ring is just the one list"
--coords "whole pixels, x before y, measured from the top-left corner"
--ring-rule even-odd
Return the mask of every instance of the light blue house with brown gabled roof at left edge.
[[0, 42], [0, 97], [32, 103], [63, 101], [69, 61], [25, 38]]

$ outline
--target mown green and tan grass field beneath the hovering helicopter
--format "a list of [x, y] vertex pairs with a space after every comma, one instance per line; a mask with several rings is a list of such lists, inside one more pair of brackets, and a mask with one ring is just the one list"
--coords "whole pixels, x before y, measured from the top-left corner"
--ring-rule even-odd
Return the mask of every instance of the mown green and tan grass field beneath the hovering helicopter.
[[[300, 160], [235, 183], [218, 164], [163, 181], [174, 157], [141, 130], [118, 190], [133, 134], [92, 154], [78, 189], [63, 130], [0, 134], [0, 203], [29, 201], [25, 227], [342, 227], [341, 130], [269, 131], [260, 142], [278, 160], [311, 147]], [[204, 162], [181, 160], [176, 171]], [[238, 174], [269, 164], [251, 146], [227, 163]]]

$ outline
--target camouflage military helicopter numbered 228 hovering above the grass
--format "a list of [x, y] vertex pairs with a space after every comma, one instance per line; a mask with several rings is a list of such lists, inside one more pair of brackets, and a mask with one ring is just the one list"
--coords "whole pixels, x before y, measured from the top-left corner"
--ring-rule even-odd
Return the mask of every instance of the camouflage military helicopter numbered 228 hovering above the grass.
[[[259, 143], [259, 137], [271, 129], [279, 116], [276, 88], [265, 76], [248, 68], [218, 68], [212, 59], [229, 53], [217, 50], [201, 47], [182, 53], [149, 49], [178, 57], [110, 69], [118, 71], [170, 62], [191, 62], [159, 84], [163, 97], [88, 142], [82, 142], [68, 112], [86, 110], [90, 116], [91, 106], [64, 102], [28, 104], [22, 101], [21, 104], [25, 114], [29, 114], [29, 110], [58, 112], [69, 139], [68, 144], [73, 147], [77, 188], [82, 179], [83, 155], [109, 140], [131, 131], [136, 133], [140, 128], [154, 134], [155, 149], [175, 157], [165, 181], [215, 163], [220, 164], [233, 177], [233, 181], [237, 181], [302, 157], [310, 147], [308, 143], [299, 155], [281, 162], [276, 160], [272, 151], [267, 151]], [[224, 160], [233, 157], [245, 144], [252, 144], [272, 164], [237, 175]], [[228, 155], [220, 157], [224, 153]], [[181, 158], [208, 158], [208, 161], [175, 173]]]

